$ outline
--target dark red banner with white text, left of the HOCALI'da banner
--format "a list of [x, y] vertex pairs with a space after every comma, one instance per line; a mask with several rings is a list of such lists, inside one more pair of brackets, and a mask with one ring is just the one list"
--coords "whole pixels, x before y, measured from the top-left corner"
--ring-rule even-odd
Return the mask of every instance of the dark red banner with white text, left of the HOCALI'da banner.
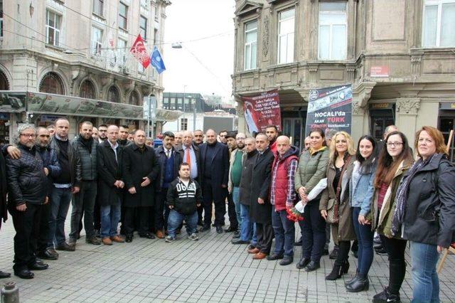
[[265, 132], [267, 125], [275, 125], [279, 131], [282, 130], [278, 90], [269, 90], [253, 97], [242, 97], [242, 101], [250, 133]]

